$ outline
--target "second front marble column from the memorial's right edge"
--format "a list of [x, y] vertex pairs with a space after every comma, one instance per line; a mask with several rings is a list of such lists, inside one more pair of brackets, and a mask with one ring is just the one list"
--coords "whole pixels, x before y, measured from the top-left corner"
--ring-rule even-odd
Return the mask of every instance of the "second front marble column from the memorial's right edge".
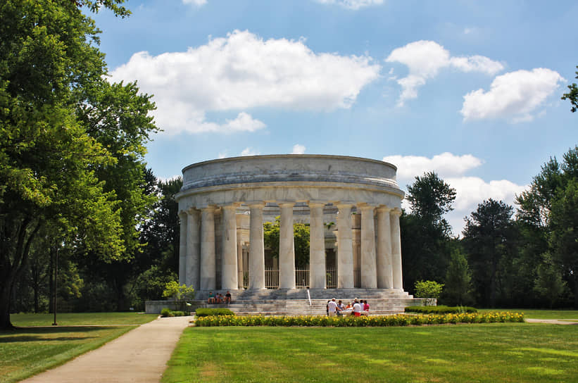
[[377, 208], [377, 288], [393, 289], [394, 275], [391, 272], [391, 225], [389, 211], [385, 206]]

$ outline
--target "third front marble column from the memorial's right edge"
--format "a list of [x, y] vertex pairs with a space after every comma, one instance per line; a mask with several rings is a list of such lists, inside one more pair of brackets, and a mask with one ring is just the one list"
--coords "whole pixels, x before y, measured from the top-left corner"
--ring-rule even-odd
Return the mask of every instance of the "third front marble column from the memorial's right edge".
[[374, 207], [363, 203], [358, 205], [358, 210], [361, 211], [361, 288], [377, 289]]

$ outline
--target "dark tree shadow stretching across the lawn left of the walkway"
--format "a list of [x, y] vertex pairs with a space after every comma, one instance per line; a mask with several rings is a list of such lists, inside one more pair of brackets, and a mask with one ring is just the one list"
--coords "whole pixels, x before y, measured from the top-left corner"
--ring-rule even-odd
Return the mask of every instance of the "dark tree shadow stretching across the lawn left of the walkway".
[[[92, 339], [94, 337], [42, 337], [42, 335], [72, 334], [77, 332], [95, 332], [103, 329], [111, 329], [113, 326], [58, 326], [58, 327], [15, 327], [11, 330], [0, 331], [0, 341], [26, 342], [26, 341], [77, 341]], [[37, 334], [34, 336], [33, 334]]]

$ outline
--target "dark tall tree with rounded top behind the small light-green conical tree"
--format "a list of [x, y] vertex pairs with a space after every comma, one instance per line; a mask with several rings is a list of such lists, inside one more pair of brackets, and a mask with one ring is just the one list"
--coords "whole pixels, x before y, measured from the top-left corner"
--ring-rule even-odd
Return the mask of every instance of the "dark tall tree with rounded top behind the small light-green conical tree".
[[515, 253], [513, 207], [488, 199], [466, 218], [463, 245], [473, 270], [479, 303], [496, 306], [498, 293], [504, 292], [503, 263]]

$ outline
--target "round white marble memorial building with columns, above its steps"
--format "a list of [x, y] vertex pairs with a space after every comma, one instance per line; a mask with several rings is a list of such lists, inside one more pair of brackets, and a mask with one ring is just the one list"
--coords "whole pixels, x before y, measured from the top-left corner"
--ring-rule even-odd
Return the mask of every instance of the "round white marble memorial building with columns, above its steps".
[[[403, 192], [394, 165], [300, 154], [223, 158], [182, 173], [175, 196], [181, 284], [201, 291], [265, 289], [263, 222], [279, 217], [277, 288], [294, 289], [296, 278], [304, 278], [295, 268], [293, 233], [294, 222], [302, 222], [310, 227], [308, 287], [403, 290]], [[337, 280], [331, 284], [329, 263]]]

